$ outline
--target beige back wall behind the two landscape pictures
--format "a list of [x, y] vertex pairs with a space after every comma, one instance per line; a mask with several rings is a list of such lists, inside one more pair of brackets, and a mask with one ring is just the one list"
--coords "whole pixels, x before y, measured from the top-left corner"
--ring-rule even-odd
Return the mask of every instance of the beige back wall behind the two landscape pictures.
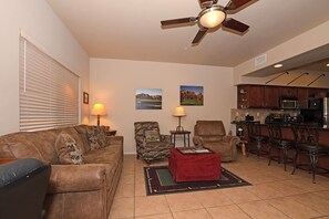
[[[179, 105], [179, 85], [204, 86], [204, 106], [185, 106], [185, 129], [193, 131], [197, 119], [222, 119], [230, 128], [230, 108], [236, 107], [230, 67], [102, 59], [91, 59], [90, 66], [90, 107], [104, 103], [109, 115], [101, 124], [124, 136], [125, 153], [135, 153], [134, 122], [157, 121], [163, 134], [175, 129], [178, 119], [172, 114]], [[163, 109], [135, 109], [135, 88], [162, 88]]]

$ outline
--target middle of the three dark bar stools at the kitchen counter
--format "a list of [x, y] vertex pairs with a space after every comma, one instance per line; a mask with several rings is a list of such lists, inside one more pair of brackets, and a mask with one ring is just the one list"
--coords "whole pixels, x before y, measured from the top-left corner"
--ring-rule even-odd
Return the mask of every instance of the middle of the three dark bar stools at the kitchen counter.
[[[279, 124], [273, 124], [273, 123], [267, 124], [267, 128], [268, 128], [268, 133], [269, 133], [268, 166], [270, 165], [270, 161], [274, 158], [278, 158], [278, 163], [280, 164], [281, 163], [281, 153], [282, 153], [285, 171], [287, 171], [287, 159], [292, 161], [292, 158], [288, 157], [288, 150], [295, 148], [294, 140], [282, 138], [282, 131], [281, 131], [281, 126]], [[277, 156], [271, 155], [273, 146], [276, 146], [278, 149]]]

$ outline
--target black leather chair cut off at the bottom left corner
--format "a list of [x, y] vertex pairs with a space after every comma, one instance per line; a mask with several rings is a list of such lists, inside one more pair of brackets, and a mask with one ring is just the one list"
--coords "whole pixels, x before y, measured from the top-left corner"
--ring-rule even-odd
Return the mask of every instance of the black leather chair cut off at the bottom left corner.
[[0, 218], [40, 219], [51, 168], [27, 158], [0, 165]]

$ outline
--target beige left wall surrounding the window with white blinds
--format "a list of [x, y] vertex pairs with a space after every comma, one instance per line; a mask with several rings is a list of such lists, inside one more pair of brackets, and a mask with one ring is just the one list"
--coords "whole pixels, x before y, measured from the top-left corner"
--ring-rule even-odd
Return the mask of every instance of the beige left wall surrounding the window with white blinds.
[[[22, 30], [81, 76], [89, 91], [89, 55], [76, 43], [44, 0], [1, 0], [0, 7], [0, 135], [19, 131], [19, 35]], [[82, 121], [88, 123], [88, 105]]]

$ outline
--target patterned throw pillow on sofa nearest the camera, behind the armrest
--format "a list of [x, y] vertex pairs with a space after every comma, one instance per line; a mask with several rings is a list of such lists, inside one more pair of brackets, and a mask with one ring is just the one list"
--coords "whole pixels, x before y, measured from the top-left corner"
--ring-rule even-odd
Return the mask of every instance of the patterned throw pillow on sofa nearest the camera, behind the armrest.
[[61, 164], [83, 164], [82, 150], [78, 148], [75, 139], [62, 132], [55, 142], [55, 149]]

